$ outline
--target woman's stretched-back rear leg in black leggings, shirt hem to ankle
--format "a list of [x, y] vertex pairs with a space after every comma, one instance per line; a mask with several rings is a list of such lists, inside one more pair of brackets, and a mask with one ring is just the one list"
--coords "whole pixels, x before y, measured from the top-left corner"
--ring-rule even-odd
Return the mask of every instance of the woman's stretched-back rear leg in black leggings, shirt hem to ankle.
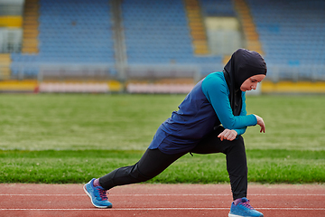
[[186, 153], [167, 155], [159, 149], [147, 149], [135, 164], [118, 168], [99, 178], [99, 184], [109, 190], [117, 185], [145, 182], [159, 175], [174, 161]]

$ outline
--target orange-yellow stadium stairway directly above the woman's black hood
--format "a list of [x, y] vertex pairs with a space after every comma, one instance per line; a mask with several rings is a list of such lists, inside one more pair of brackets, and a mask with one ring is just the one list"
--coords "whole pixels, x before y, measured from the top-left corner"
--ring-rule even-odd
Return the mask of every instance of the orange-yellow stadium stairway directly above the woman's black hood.
[[234, 4], [246, 37], [246, 49], [263, 54], [262, 45], [248, 5], [245, 0], [234, 0]]

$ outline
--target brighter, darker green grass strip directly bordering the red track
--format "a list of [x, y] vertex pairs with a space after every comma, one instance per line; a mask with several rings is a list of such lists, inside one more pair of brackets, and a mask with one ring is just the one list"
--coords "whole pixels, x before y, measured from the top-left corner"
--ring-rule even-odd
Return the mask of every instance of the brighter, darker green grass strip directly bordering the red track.
[[[323, 183], [325, 151], [247, 150], [248, 181]], [[0, 183], [86, 183], [120, 166], [133, 165], [143, 151], [0, 151]], [[228, 182], [225, 156], [186, 155], [148, 183], [216, 184]]]

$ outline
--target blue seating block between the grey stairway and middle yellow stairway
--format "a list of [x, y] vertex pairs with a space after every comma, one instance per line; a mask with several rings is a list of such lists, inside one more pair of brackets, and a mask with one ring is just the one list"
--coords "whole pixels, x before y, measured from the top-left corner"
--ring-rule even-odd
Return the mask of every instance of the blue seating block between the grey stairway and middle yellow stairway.
[[207, 74], [221, 63], [221, 56], [193, 54], [181, 0], [125, 0], [122, 14], [129, 65], [194, 64]]

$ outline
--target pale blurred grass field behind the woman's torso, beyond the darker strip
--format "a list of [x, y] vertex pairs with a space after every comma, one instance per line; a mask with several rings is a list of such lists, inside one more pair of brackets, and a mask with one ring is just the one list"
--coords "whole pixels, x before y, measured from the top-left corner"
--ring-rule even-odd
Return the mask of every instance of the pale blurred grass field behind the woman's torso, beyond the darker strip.
[[[0, 149], [144, 150], [185, 95], [0, 95]], [[325, 95], [247, 96], [246, 149], [325, 150]]]

